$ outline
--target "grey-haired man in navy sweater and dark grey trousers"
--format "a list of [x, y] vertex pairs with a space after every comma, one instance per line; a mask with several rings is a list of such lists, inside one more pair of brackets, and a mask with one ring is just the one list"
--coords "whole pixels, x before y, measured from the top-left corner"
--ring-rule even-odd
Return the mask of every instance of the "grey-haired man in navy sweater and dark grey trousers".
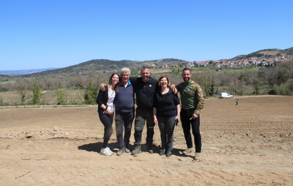
[[[132, 122], [134, 119], [134, 89], [129, 81], [130, 69], [121, 69], [121, 79], [119, 91], [115, 97], [115, 126], [116, 137], [119, 145], [117, 155], [124, 152], [129, 153], [129, 142], [131, 135]], [[103, 91], [105, 84], [101, 84], [100, 90]], [[124, 138], [123, 138], [124, 131]]]

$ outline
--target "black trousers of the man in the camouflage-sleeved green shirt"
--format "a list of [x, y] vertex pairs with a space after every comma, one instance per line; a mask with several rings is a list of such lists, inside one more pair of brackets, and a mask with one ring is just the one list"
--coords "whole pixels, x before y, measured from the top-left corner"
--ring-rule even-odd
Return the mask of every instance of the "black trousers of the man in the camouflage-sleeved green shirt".
[[201, 135], [200, 135], [200, 117], [197, 119], [190, 119], [194, 113], [194, 109], [192, 110], [184, 110], [180, 111], [180, 119], [182, 123], [183, 133], [186, 141], [187, 148], [192, 148], [192, 138], [190, 133], [190, 124], [192, 128], [192, 133], [194, 136], [195, 143], [195, 152], [201, 152]]

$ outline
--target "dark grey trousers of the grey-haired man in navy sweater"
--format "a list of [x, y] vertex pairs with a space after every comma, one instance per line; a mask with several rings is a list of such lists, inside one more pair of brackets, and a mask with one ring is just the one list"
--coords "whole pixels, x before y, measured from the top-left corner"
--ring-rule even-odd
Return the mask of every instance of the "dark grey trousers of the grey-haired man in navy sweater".
[[[133, 112], [134, 111], [131, 111], [131, 112], [115, 111], [116, 137], [117, 137], [117, 142], [119, 144], [119, 147], [121, 148], [124, 147], [124, 144], [129, 143], [132, 121], [134, 119]], [[123, 140], [123, 131], [124, 131], [124, 140]]]

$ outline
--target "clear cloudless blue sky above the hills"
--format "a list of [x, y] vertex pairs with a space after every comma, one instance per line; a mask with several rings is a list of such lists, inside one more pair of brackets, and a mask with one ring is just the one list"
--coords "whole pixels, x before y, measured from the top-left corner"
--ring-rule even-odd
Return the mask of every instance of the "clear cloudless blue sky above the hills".
[[0, 70], [293, 47], [292, 0], [0, 0]]

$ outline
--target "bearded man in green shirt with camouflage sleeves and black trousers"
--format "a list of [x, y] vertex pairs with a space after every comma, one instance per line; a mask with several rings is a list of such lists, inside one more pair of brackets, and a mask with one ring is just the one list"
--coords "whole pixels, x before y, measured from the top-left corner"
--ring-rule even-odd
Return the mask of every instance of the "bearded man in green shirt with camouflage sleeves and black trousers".
[[201, 153], [201, 135], [200, 135], [200, 112], [204, 105], [203, 92], [199, 84], [192, 81], [191, 69], [184, 68], [182, 70], [182, 83], [177, 86], [172, 85], [173, 88], [178, 88], [181, 97], [181, 111], [180, 118], [183, 128], [184, 137], [186, 140], [187, 149], [183, 154], [190, 154], [193, 152], [192, 138], [190, 133], [190, 125], [194, 136], [195, 156], [194, 160], [200, 161]]

